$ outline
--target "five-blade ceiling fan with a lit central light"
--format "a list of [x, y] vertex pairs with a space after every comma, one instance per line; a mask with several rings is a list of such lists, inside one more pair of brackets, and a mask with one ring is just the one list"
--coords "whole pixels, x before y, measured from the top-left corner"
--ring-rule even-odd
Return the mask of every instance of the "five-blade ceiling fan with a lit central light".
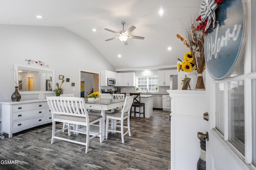
[[105, 41], [110, 41], [110, 40], [114, 40], [116, 38], [119, 38], [119, 40], [124, 42], [125, 45], [128, 45], [128, 41], [127, 41], [128, 38], [144, 40], [144, 37], [128, 35], [128, 34], [130, 34], [130, 32], [132, 32], [136, 28], [135, 26], [131, 26], [130, 28], [128, 28], [128, 30], [124, 31], [124, 24], [125, 24], [125, 22], [122, 21], [121, 23], [123, 24], [123, 30], [120, 31], [119, 33], [115, 32], [115, 31], [112, 31], [112, 30], [109, 30], [108, 28], [104, 29], [104, 30], [107, 30], [107, 31], [110, 31], [110, 32], [113, 32], [113, 33], [119, 35], [117, 37], [110, 38], [110, 39], [105, 40]]

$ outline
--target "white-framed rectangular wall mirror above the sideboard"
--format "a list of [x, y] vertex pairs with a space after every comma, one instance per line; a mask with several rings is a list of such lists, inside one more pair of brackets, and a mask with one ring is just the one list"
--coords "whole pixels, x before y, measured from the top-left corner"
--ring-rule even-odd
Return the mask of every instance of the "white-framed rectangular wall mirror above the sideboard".
[[20, 84], [23, 81], [18, 87], [20, 94], [35, 94], [40, 91], [53, 92], [55, 85], [54, 69], [14, 63], [14, 71], [17, 82]]

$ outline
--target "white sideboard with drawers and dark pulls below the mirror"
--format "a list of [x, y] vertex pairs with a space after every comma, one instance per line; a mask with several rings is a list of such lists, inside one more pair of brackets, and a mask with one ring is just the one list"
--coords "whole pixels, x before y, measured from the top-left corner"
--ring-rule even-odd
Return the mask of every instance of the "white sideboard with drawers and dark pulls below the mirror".
[[2, 132], [12, 134], [52, 122], [46, 99], [18, 102], [1, 102]]

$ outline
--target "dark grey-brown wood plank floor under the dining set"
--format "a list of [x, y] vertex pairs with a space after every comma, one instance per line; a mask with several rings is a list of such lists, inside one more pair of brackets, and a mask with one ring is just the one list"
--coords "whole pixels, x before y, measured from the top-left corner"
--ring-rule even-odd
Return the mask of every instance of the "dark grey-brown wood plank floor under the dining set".
[[[90, 140], [87, 154], [84, 145], [58, 139], [51, 144], [51, 124], [12, 138], [5, 134], [0, 160], [18, 160], [18, 164], [0, 164], [0, 170], [170, 170], [169, 113], [154, 110], [152, 117], [131, 117], [130, 123], [131, 137], [124, 136], [124, 144], [120, 133], [109, 134], [102, 143], [96, 137]], [[84, 134], [70, 137], [83, 140]]]

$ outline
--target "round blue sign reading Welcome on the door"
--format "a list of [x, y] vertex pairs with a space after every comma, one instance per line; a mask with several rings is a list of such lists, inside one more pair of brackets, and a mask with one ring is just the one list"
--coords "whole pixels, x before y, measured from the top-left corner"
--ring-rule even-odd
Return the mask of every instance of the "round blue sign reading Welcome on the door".
[[224, 0], [216, 9], [215, 27], [204, 39], [206, 68], [215, 80], [225, 79], [242, 57], [246, 31], [243, 0]]

